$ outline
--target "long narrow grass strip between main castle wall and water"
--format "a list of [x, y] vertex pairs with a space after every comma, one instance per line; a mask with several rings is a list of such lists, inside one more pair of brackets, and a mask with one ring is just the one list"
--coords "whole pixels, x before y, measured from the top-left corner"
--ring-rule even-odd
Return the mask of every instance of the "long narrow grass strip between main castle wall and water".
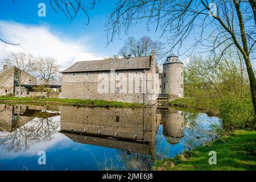
[[104, 101], [104, 100], [79, 100], [79, 99], [60, 99], [60, 98], [18, 98], [0, 97], [0, 103], [12, 104], [54, 104], [72, 106], [101, 106], [101, 107], [144, 107], [144, 104]]

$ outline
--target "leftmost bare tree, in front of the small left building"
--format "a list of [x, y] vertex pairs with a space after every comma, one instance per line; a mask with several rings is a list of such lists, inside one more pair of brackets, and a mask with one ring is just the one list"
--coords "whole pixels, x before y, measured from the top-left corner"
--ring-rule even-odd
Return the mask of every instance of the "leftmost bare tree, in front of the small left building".
[[23, 84], [26, 82], [28, 73], [33, 71], [34, 56], [29, 53], [14, 53], [10, 52], [5, 59], [5, 63], [9, 67], [14, 67], [14, 80], [19, 87], [19, 98], [23, 90]]

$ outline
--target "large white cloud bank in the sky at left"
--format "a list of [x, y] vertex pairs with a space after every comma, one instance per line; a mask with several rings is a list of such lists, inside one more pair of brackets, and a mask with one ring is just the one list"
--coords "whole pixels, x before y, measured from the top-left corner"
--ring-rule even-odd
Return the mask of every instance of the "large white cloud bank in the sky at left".
[[10, 51], [53, 57], [62, 69], [68, 68], [79, 60], [99, 59], [86, 46], [84, 38], [73, 40], [61, 34], [56, 35], [47, 26], [32, 26], [0, 20], [0, 37], [10, 43], [20, 43], [19, 46], [0, 43], [0, 61], [3, 61]]

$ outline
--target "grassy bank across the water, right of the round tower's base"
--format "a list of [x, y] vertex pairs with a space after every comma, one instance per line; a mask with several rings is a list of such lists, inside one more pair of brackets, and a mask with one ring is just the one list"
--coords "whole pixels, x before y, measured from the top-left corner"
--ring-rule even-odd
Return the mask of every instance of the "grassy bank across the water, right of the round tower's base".
[[179, 98], [168, 103], [170, 106], [182, 108], [184, 111], [201, 112], [218, 115], [218, 109], [207, 98]]

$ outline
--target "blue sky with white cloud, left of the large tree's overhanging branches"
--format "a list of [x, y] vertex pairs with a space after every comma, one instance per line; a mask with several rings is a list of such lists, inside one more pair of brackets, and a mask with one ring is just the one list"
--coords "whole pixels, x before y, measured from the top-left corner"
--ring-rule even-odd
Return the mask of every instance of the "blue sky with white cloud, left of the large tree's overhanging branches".
[[[41, 2], [46, 4], [46, 17], [38, 16], [38, 4]], [[13, 48], [11, 46], [0, 45], [0, 59], [3, 60], [6, 56], [6, 52], [12, 51], [13, 49], [31, 52], [36, 56], [55, 57], [55, 53], [51, 53], [49, 50], [44, 51], [43, 47], [56, 45], [56, 53], [58, 51], [59, 54], [60, 52], [65, 52], [65, 56], [68, 57], [65, 61], [64, 57], [55, 57], [59, 59], [59, 63], [65, 68], [77, 61], [77, 59], [101, 59], [105, 56], [117, 54], [119, 48], [122, 47], [124, 40], [127, 39], [128, 36], [134, 36], [139, 39], [147, 35], [150, 36], [152, 40], [159, 40], [159, 32], [155, 32], [155, 30], [147, 31], [145, 28], [146, 24], [140, 24], [132, 28], [129, 31], [129, 35], [123, 34], [122, 39], [115, 38], [114, 42], [106, 47], [105, 22], [106, 15], [114, 9], [115, 1], [112, 2], [113, 3], [110, 3], [108, 0], [101, 0], [100, 3], [97, 2], [96, 7], [88, 11], [90, 22], [86, 25], [87, 19], [82, 12], [69, 23], [64, 13], [56, 13], [52, 9], [48, 0], [15, 0], [15, 3], [11, 0], [0, 1], [0, 36], [9, 42], [21, 43], [20, 47], [22, 47]], [[58, 43], [54, 41], [46, 42], [46, 39], [53, 40], [55, 38]], [[63, 46], [61, 42], [63, 41], [65, 48], [61, 48]], [[37, 47], [40, 43], [44, 46]], [[84, 52], [84, 54], [77, 56], [78, 53], [75, 51], [73, 52], [74, 55], [72, 55], [72, 52], [70, 55], [67, 55], [67, 52], [69, 52], [67, 48], [68, 44], [71, 46], [70, 51], [73, 51], [77, 48], [76, 46], [79, 46], [77, 49], [79, 52]], [[57, 45], [59, 46], [57, 47]], [[38, 50], [42, 49], [42, 51], [35, 50], [36, 48]], [[51, 49], [55, 49], [55, 47], [51, 47]], [[86, 53], [89, 54], [89, 56], [86, 56]]]

